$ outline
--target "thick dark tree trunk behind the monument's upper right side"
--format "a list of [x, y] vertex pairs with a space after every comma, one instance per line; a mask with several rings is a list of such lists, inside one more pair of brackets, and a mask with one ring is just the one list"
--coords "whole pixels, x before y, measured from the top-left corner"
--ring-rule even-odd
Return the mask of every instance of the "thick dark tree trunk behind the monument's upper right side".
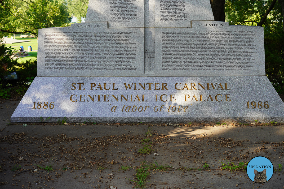
[[210, 4], [214, 20], [225, 22], [225, 0], [210, 0]]

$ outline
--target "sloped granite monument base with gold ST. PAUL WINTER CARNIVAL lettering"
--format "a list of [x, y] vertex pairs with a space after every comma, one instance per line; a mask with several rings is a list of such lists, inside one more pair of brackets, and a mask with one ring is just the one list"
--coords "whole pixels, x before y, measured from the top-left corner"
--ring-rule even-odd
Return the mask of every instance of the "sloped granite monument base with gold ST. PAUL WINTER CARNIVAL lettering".
[[11, 122], [284, 122], [266, 76], [36, 77]]

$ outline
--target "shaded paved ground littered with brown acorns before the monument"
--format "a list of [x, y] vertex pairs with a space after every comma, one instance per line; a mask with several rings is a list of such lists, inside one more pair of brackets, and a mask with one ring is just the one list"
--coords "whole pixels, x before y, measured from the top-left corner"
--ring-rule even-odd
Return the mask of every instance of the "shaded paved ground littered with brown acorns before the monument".
[[9, 124], [19, 100], [0, 102], [0, 188], [136, 188], [146, 173], [145, 188], [284, 188], [284, 171], [257, 184], [243, 169], [284, 164], [284, 124]]

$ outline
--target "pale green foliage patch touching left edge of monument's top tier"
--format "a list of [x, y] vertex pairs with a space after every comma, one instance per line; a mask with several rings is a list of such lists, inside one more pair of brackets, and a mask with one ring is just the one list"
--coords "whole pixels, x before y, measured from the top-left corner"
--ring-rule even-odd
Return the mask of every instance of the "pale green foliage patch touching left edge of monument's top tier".
[[82, 22], [86, 18], [89, 0], [67, 0], [68, 13], [77, 18], [77, 22]]

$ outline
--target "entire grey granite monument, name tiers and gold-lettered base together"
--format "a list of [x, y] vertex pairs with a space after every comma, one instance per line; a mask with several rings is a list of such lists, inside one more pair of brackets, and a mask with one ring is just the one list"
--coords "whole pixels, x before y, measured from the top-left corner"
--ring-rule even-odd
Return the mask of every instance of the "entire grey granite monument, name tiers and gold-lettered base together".
[[12, 122], [284, 122], [263, 27], [214, 21], [209, 0], [90, 0], [85, 21], [39, 29]]

